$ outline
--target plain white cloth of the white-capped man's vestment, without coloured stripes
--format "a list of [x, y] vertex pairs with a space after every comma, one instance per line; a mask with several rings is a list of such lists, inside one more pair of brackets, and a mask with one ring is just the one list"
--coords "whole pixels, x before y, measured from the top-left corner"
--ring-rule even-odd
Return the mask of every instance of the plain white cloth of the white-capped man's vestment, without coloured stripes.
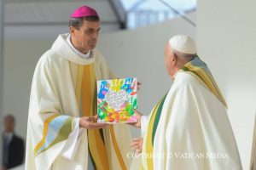
[[[152, 132], [145, 136], [148, 133]], [[153, 168], [147, 162], [143, 157], [144, 169]], [[153, 162], [154, 169], [241, 170], [225, 106], [185, 72], [177, 73], [166, 95], [154, 134]]]

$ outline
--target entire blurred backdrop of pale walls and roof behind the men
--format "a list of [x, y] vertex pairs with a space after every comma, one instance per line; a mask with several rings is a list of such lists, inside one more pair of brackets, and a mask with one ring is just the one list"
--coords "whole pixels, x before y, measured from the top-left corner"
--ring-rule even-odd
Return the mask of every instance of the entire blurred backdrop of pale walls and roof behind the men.
[[[68, 32], [69, 15], [84, 4], [101, 17], [97, 48], [112, 70], [143, 82], [138, 110], [145, 115], [172, 86], [164, 65], [166, 42], [176, 34], [193, 37], [227, 99], [242, 166], [249, 169], [256, 112], [252, 0], [0, 0], [1, 122], [15, 116], [15, 133], [26, 140], [35, 66], [55, 38]], [[133, 137], [140, 135], [131, 130]]]

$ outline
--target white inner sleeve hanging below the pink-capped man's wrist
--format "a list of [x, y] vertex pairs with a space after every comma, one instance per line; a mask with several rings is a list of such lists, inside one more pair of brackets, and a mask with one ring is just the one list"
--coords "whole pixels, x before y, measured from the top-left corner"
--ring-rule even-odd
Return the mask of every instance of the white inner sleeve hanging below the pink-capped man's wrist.
[[84, 128], [79, 127], [79, 119], [80, 118], [74, 118], [73, 132], [69, 134], [67, 142], [64, 145], [64, 148], [61, 150], [60, 156], [63, 156], [70, 161], [73, 161], [75, 153], [78, 150], [82, 133], [84, 132]]

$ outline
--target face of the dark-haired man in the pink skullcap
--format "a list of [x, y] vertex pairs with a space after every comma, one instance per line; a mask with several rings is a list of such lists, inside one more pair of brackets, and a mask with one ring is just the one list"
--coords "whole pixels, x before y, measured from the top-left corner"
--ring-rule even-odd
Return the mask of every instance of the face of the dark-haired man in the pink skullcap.
[[83, 54], [86, 54], [90, 49], [96, 48], [100, 26], [100, 21], [83, 20], [79, 30], [71, 27], [70, 31], [74, 47]]

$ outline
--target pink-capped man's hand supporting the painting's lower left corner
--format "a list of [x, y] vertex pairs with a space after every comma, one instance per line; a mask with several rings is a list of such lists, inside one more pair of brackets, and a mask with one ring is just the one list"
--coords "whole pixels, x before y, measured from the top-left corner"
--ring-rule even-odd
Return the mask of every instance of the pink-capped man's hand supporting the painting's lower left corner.
[[80, 127], [84, 127], [87, 129], [97, 129], [102, 127], [107, 127], [108, 123], [98, 123], [97, 116], [84, 116], [79, 120]]

